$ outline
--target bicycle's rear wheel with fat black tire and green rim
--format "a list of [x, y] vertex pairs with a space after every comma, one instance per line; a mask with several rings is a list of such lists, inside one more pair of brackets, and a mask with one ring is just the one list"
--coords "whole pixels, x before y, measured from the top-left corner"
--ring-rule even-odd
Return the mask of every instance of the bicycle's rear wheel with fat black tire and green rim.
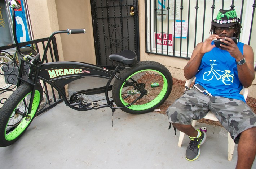
[[[155, 61], [141, 61], [137, 65], [124, 69], [118, 75], [119, 78], [134, 83], [147, 90], [147, 94], [137, 100], [133, 105], [121, 108], [124, 112], [131, 114], [143, 114], [153, 111], [168, 98], [172, 90], [172, 76], [169, 70], [162, 64]], [[159, 86], [151, 87], [152, 83]], [[118, 107], [132, 103], [140, 96], [140, 93], [129, 95], [127, 91], [136, 90], [132, 85], [128, 85], [116, 79], [112, 88], [112, 97]]]

